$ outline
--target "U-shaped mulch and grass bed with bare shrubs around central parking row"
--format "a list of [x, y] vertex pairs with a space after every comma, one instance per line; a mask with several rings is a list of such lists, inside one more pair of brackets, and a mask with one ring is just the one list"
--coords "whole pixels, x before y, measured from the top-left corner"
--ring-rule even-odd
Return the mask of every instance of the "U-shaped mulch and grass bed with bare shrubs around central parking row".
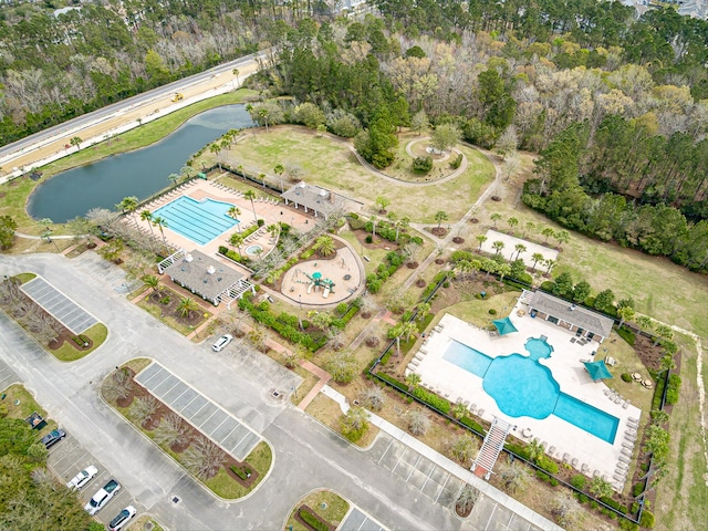
[[243, 462], [236, 460], [134, 381], [145, 362], [133, 360], [111, 373], [104, 399], [215, 494], [235, 500], [251, 492], [270, 470], [270, 446], [261, 441]]

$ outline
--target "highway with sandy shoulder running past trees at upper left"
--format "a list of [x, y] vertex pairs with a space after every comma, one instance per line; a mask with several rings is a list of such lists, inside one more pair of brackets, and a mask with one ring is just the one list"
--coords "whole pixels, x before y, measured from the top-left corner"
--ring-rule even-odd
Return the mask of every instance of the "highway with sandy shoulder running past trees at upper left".
[[[264, 51], [239, 58], [3, 146], [0, 148], [0, 166], [8, 174], [6, 177], [15, 177], [22, 169], [31, 169], [74, 153], [77, 147], [65, 148], [73, 136], [80, 136], [84, 140], [81, 146], [83, 148], [85, 145], [101, 142], [107, 132], [117, 132], [115, 129], [118, 125], [133, 123], [132, 126], [122, 127], [119, 132], [123, 132], [197, 101], [229, 92], [237, 83], [240, 85], [246, 77], [257, 72], [259, 61], [268, 61], [270, 53]], [[232, 73], [233, 69], [239, 70], [238, 81]], [[171, 102], [175, 93], [185, 94], [184, 101]], [[6, 179], [0, 178], [0, 181]]]

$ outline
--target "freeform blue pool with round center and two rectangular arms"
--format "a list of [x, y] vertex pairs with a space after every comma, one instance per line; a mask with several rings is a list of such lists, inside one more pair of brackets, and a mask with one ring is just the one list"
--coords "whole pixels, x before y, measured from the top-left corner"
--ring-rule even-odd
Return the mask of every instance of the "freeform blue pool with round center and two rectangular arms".
[[442, 358], [482, 378], [485, 392], [510, 417], [546, 418], [555, 415], [595, 437], [613, 444], [620, 420], [571, 395], [561, 393], [551, 371], [539, 360], [553, 347], [530, 337], [524, 345], [529, 356], [510, 354], [491, 358], [476, 348], [451, 341]]

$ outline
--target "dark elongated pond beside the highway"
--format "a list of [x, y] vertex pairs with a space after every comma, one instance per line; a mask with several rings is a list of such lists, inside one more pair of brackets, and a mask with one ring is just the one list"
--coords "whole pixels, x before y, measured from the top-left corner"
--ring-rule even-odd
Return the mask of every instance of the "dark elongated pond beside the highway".
[[124, 197], [145, 199], [170, 185], [189, 156], [229, 129], [251, 127], [243, 105], [225, 105], [189, 118], [156, 144], [55, 175], [28, 201], [34, 219], [62, 223], [92, 208], [115, 209]]

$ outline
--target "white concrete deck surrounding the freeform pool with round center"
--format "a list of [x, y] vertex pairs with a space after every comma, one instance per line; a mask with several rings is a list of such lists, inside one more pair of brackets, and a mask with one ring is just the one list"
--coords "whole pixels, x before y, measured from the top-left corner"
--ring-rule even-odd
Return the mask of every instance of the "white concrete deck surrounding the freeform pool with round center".
[[[519, 310], [523, 310], [525, 314], [520, 316]], [[624, 461], [627, 460], [627, 456], [623, 455], [623, 445], [634, 446], [632, 438], [635, 437], [625, 435], [625, 431], [636, 434], [629, 426], [629, 419], [638, 420], [642, 412], [636, 406], [608, 395], [608, 387], [602, 382], [593, 382], [585, 371], [581, 360], [603, 357], [598, 354], [592, 356], [593, 351], [602, 350], [600, 344], [594, 341], [586, 345], [571, 343], [570, 340], [575, 337], [573, 332], [542, 319], [529, 316], [528, 306], [521, 302], [517, 302], [510, 319], [519, 332], [499, 336], [490, 335], [487, 330], [452, 315], [444, 315], [416, 354], [414, 361], [418, 360], [417, 365], [408, 365], [406, 373], [415, 371], [420, 375], [421, 385], [425, 387], [436, 391], [452, 403], [467, 403], [470, 409], [473, 409], [472, 413], [485, 420], [491, 421], [497, 416], [510, 423], [516, 427], [511, 435], [527, 441], [539, 439], [546, 444], [546, 454], [568, 462], [589, 477], [604, 476], [615, 490], [623, 490], [626, 481], [615, 476], [621, 477], [618, 469], [625, 469], [626, 466]], [[543, 358], [539, 363], [550, 368], [561, 392], [620, 419], [614, 444], [606, 442], [555, 415], [544, 419], [510, 417], [501, 413], [494, 399], [485, 392], [482, 378], [442, 358], [451, 340], [472, 346], [492, 358], [512, 353], [528, 356], [525, 342], [529, 337], [541, 335], [546, 336], [553, 353], [550, 358]], [[620, 375], [616, 374], [615, 377]], [[627, 449], [624, 451], [626, 454]], [[635, 449], [631, 451], [634, 452]]]

